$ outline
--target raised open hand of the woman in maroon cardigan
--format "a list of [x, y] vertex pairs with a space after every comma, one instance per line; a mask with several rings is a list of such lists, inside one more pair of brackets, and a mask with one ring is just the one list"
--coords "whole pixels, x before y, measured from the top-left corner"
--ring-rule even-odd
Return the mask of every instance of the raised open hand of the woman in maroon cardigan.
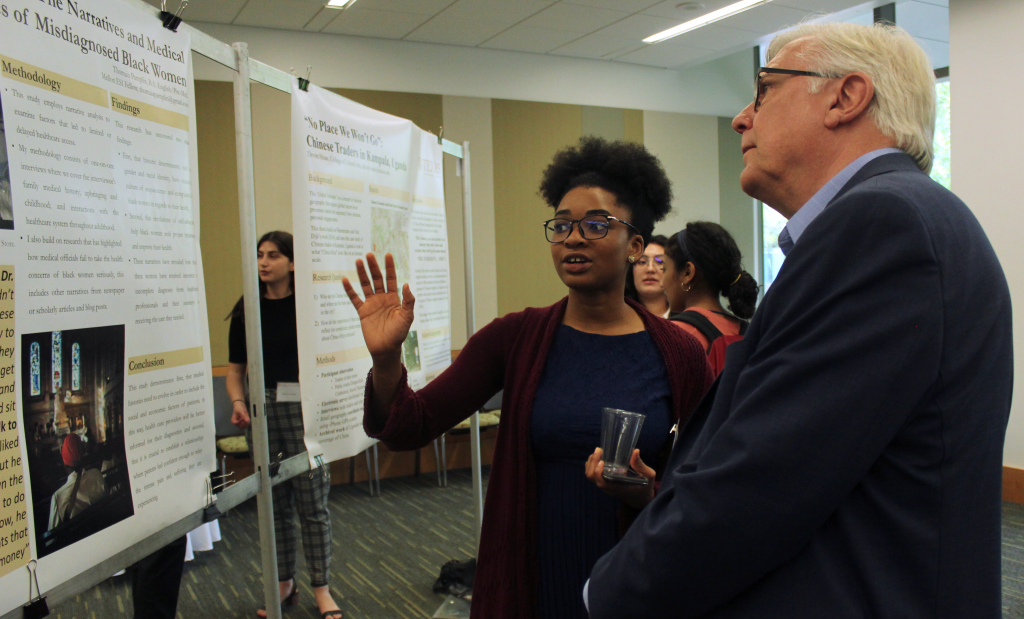
[[[398, 298], [398, 280], [394, 274], [394, 257], [384, 255], [385, 276], [381, 276], [377, 257], [367, 254], [367, 264], [370, 276], [362, 260], [355, 261], [355, 272], [359, 276], [364, 299], [352, 289], [348, 278], [342, 278], [341, 284], [348, 293], [352, 305], [359, 314], [359, 325], [362, 327], [362, 338], [367, 348], [374, 358], [384, 358], [399, 355], [401, 343], [406, 341], [409, 330], [413, 326], [413, 306], [416, 297], [406, 284], [401, 288], [401, 298]], [[371, 285], [373, 281], [373, 285]]]

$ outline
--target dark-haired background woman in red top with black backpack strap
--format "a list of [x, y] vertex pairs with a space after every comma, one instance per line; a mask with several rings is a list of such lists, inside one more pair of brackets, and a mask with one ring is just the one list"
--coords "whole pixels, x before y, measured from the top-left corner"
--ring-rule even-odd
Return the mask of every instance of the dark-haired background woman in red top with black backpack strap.
[[[712, 221], [687, 223], [669, 239], [665, 254], [662, 286], [669, 319], [700, 342], [718, 376], [726, 347], [742, 339], [746, 319], [754, 316], [758, 283], [743, 271], [732, 235]], [[722, 306], [723, 296], [731, 314]]]

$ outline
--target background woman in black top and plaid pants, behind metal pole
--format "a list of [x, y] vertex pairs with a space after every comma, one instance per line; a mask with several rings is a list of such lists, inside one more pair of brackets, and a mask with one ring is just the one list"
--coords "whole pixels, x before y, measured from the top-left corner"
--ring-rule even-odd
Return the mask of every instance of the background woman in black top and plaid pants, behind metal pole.
[[[266, 389], [267, 439], [271, 457], [290, 457], [306, 450], [303, 441], [302, 406], [298, 402], [278, 402], [278, 386], [299, 381], [298, 337], [295, 331], [295, 262], [292, 235], [270, 232], [257, 245], [259, 260], [260, 319], [263, 335], [263, 377]], [[248, 428], [246, 402], [246, 325], [242, 299], [228, 318], [227, 393], [231, 397], [231, 423]], [[251, 435], [247, 432], [251, 441]], [[309, 568], [309, 580], [316, 607], [325, 619], [341, 619], [342, 613], [331, 596], [328, 577], [331, 569], [331, 517], [327, 508], [331, 490], [330, 471], [300, 474], [273, 487], [273, 524], [278, 538], [278, 575], [282, 606], [294, 605], [295, 526], [293, 499], [298, 507], [302, 547]], [[260, 609], [257, 613], [265, 617]]]

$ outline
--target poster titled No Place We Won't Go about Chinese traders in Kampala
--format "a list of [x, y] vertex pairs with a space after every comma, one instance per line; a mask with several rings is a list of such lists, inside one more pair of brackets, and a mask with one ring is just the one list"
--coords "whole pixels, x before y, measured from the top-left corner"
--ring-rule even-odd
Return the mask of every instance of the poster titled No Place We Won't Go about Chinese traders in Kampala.
[[451, 363], [444, 182], [437, 138], [412, 121], [338, 94], [292, 84], [292, 212], [299, 379], [311, 464], [353, 456], [372, 365], [359, 318], [341, 285], [358, 289], [355, 260], [394, 256], [399, 289], [416, 296], [402, 345], [420, 388]]

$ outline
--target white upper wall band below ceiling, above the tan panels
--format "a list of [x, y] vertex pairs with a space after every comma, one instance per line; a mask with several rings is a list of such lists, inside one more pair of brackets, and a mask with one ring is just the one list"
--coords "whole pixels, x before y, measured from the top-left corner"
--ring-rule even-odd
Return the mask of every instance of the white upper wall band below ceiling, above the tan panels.
[[[476, 47], [300, 33], [221, 24], [191, 24], [225, 43], [249, 43], [250, 55], [314, 84], [462, 96], [509, 98], [732, 116], [751, 97], [751, 67], [722, 58], [685, 71]], [[230, 80], [197, 60], [196, 79]]]

